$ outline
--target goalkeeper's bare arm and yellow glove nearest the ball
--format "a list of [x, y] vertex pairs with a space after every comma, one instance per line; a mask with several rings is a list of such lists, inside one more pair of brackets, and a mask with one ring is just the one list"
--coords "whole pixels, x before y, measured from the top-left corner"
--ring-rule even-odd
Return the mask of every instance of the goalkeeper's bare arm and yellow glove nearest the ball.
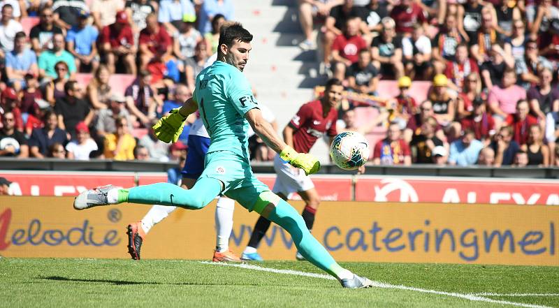
[[258, 108], [253, 108], [245, 114], [245, 118], [254, 129], [254, 132], [284, 161], [288, 161], [291, 166], [305, 170], [307, 175], [317, 173], [320, 169], [319, 161], [311, 154], [298, 153], [279, 138], [272, 125], [266, 122]]

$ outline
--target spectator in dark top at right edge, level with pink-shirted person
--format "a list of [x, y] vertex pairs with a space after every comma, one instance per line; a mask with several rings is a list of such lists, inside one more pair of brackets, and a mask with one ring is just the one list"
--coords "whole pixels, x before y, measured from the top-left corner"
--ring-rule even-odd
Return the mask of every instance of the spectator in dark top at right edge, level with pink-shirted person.
[[538, 84], [528, 90], [527, 96], [532, 115], [538, 117], [540, 123], [545, 124], [549, 112], [559, 111], [559, 90], [551, 87], [553, 73], [549, 68], [541, 66], [538, 79]]

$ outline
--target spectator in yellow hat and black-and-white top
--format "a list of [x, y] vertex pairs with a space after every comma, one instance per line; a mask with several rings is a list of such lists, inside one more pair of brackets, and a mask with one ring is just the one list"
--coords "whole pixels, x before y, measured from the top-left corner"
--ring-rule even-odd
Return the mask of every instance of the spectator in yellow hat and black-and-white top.
[[433, 78], [433, 87], [427, 97], [433, 103], [433, 112], [437, 122], [444, 128], [451, 138], [460, 135], [460, 123], [454, 121], [456, 116], [456, 96], [449, 91], [449, 80], [444, 74], [437, 74]]

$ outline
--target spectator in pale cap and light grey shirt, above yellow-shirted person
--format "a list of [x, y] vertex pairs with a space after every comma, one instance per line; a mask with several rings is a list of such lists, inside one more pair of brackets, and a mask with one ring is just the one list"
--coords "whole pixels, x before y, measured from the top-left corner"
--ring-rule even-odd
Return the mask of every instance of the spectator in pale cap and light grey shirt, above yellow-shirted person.
[[108, 133], [115, 133], [117, 131], [117, 126], [115, 126], [115, 120], [118, 118], [126, 119], [128, 124], [128, 130], [133, 129], [132, 122], [130, 121], [130, 113], [126, 110], [124, 105], [126, 104], [126, 98], [120, 94], [111, 94], [108, 108], [101, 109], [97, 115], [96, 130], [97, 135], [105, 136]]

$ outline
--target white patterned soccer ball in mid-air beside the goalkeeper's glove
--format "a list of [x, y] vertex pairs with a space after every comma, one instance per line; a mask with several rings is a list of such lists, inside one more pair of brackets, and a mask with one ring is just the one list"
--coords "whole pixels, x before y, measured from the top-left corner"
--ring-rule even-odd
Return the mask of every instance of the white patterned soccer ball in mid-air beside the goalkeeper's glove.
[[355, 131], [339, 133], [330, 145], [332, 161], [344, 170], [356, 170], [363, 166], [369, 154], [369, 142]]

